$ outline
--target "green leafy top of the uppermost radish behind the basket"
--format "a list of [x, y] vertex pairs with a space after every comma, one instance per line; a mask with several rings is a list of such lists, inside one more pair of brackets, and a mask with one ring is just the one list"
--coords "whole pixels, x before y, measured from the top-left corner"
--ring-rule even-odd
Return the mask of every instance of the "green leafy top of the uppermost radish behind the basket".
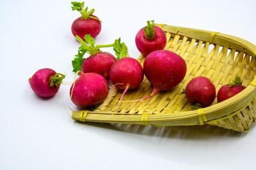
[[[88, 7], [84, 8], [84, 2], [83, 3], [78, 3], [76, 1], [71, 2], [73, 6], [71, 6], [72, 10], [77, 10], [78, 12], [81, 13], [83, 19], [95, 19], [99, 20], [97, 17], [93, 17], [93, 12], [95, 11], [94, 9], [88, 11]], [[99, 20], [101, 22], [101, 20]]]

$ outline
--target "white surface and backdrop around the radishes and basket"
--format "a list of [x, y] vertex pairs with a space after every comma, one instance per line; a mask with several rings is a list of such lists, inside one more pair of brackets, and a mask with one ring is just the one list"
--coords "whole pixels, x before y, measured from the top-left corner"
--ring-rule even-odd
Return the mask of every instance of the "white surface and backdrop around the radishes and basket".
[[[86, 1], [102, 23], [97, 44], [134, 38], [147, 20], [238, 36], [256, 44], [256, 1]], [[65, 108], [70, 86], [53, 98], [31, 90], [40, 68], [67, 73], [79, 43], [70, 1], [0, 1], [0, 169], [252, 169], [256, 125], [247, 134], [218, 127], [81, 127]], [[104, 49], [105, 50], [105, 49]], [[113, 52], [112, 49], [106, 51]], [[71, 114], [71, 112], [70, 112]]]

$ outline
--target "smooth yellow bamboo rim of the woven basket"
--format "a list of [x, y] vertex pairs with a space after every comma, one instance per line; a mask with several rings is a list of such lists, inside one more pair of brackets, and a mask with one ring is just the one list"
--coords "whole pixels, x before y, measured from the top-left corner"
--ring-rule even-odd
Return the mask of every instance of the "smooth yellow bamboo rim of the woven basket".
[[[163, 31], [186, 36], [196, 40], [202, 40], [203, 42], [211, 42], [216, 45], [228, 47], [228, 49], [236, 49], [238, 51], [249, 54], [250, 56], [256, 57], [256, 45], [247, 42], [241, 38], [231, 35], [225, 35], [223, 33], [216, 33], [212, 31], [205, 31], [202, 29], [193, 29], [188, 27], [168, 26], [166, 24], [156, 24], [160, 26]], [[214, 34], [214, 37], [212, 37]], [[142, 54], [139, 58], [145, 58]], [[253, 81], [256, 81], [254, 77]], [[241, 93], [234, 97], [228, 98], [227, 100], [218, 104], [210, 105], [204, 108], [204, 115], [207, 121], [200, 121], [198, 110], [186, 111], [186, 112], [168, 112], [166, 114], [149, 114], [147, 116], [147, 123], [149, 125], [193, 125], [200, 123], [201, 125], [208, 121], [217, 120], [228, 116], [236, 111], [239, 111], [245, 105], [252, 102], [256, 96], [256, 87], [248, 85]], [[97, 107], [98, 108], [98, 107]], [[96, 110], [97, 110], [96, 108]], [[79, 120], [80, 111], [73, 111], [72, 118]], [[103, 118], [104, 117], [104, 118]], [[141, 124], [141, 118], [143, 114], [129, 114], [124, 112], [105, 112], [105, 111], [88, 111], [86, 120], [84, 121], [97, 121], [97, 122], [108, 122], [108, 123], [132, 123]], [[164, 121], [163, 121], [164, 118]], [[124, 121], [125, 120], [125, 121]], [[159, 121], [161, 120], [161, 121]], [[182, 121], [181, 121], [182, 120]], [[186, 121], [184, 121], [186, 120]], [[143, 123], [142, 123], [143, 124]]]

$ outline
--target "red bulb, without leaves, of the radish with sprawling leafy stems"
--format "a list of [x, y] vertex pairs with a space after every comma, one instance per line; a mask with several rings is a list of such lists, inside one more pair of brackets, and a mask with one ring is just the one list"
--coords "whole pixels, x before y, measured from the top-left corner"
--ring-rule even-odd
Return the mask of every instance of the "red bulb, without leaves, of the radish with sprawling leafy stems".
[[109, 52], [99, 52], [94, 56], [86, 58], [82, 64], [83, 73], [99, 73], [103, 77], [109, 77], [109, 70], [113, 63], [115, 63], [116, 58]]

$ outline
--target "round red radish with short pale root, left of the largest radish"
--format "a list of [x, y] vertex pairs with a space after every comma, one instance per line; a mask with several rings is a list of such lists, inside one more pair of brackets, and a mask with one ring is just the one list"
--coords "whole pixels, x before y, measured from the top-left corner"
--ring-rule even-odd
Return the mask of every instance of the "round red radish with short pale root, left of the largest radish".
[[110, 69], [110, 80], [116, 88], [124, 89], [122, 101], [127, 89], [135, 89], [143, 81], [144, 73], [140, 63], [134, 58], [121, 58]]

